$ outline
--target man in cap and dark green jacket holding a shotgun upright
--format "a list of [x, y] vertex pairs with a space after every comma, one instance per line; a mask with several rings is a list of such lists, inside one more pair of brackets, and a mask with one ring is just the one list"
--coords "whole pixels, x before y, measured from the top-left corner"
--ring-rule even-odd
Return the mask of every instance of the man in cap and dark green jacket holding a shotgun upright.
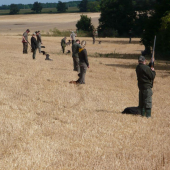
[[153, 80], [156, 73], [154, 68], [146, 65], [146, 59], [144, 56], [139, 57], [138, 63], [139, 64], [136, 67], [136, 75], [139, 88], [139, 108], [141, 110], [141, 115], [149, 118], [151, 117], [152, 109]]

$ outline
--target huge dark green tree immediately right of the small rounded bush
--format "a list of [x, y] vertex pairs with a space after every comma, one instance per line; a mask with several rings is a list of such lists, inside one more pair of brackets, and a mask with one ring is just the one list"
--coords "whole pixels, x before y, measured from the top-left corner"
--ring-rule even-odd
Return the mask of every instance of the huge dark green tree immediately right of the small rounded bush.
[[115, 30], [125, 36], [134, 25], [136, 12], [132, 0], [101, 0], [100, 10], [99, 30], [103, 32]]

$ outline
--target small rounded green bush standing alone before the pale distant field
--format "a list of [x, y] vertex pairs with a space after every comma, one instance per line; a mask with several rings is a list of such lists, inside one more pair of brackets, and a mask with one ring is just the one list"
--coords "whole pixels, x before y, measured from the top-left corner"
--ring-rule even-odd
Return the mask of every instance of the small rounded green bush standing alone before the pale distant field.
[[92, 31], [94, 26], [91, 23], [91, 18], [88, 18], [87, 15], [81, 15], [80, 20], [77, 21], [76, 27], [78, 30], [83, 31]]

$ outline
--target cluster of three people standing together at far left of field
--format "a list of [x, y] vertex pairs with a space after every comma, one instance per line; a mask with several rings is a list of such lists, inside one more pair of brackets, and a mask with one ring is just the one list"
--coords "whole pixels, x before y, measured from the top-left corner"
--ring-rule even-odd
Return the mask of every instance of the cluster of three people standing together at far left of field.
[[31, 37], [31, 44], [28, 41], [28, 34], [29, 34], [30, 30], [27, 29], [22, 36], [22, 43], [23, 43], [23, 54], [27, 54], [28, 53], [28, 44], [31, 46], [31, 50], [32, 50], [32, 58], [35, 59], [36, 56], [36, 51], [37, 48], [39, 50], [39, 53], [41, 53], [41, 44], [42, 44], [42, 40], [41, 40], [41, 34], [40, 31], [35, 31], [32, 34]]

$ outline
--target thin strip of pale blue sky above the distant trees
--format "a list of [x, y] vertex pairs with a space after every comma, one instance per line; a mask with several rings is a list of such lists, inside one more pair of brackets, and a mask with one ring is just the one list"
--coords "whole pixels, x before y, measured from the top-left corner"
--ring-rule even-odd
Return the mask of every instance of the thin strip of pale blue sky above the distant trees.
[[0, 0], [0, 6], [1, 5], [10, 5], [10, 4], [33, 4], [34, 2], [40, 2], [40, 3], [50, 3], [50, 2], [68, 2], [68, 1], [77, 1], [77, 0]]

